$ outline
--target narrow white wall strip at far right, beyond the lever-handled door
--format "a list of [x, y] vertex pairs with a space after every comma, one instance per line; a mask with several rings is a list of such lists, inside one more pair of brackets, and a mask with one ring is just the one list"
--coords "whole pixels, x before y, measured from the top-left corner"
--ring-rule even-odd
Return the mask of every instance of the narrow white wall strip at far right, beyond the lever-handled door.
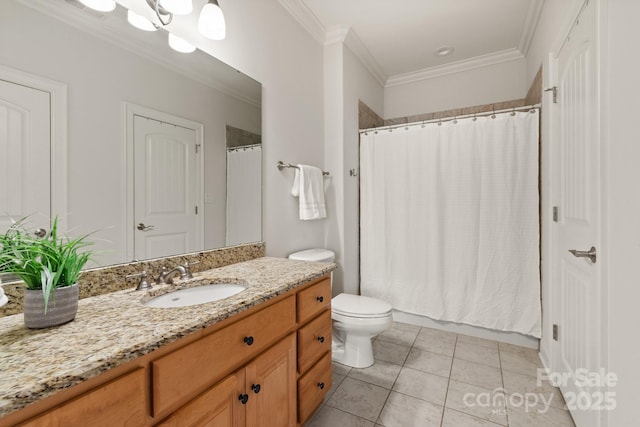
[[[640, 384], [640, 59], [634, 52], [640, 40], [640, 2], [631, 0], [601, 1], [608, 11], [608, 51], [602, 93], [605, 95], [603, 142], [608, 159], [604, 191], [608, 210], [602, 233], [605, 237], [602, 259], [606, 265], [604, 280], [608, 287], [609, 366], [618, 384], [617, 408], [608, 413], [609, 426], [637, 425], [640, 419], [638, 385]], [[608, 10], [607, 10], [608, 6]], [[605, 30], [607, 29], [605, 27]], [[608, 110], [608, 114], [607, 114]]]

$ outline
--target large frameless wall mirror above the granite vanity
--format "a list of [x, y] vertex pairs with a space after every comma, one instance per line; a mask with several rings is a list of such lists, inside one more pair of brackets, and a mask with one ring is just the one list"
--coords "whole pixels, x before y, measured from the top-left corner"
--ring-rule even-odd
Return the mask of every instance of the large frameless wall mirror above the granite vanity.
[[[96, 265], [261, 240], [260, 83], [202, 51], [172, 50], [165, 31], [132, 27], [121, 6], [2, 0], [0, 46], [4, 221], [32, 213], [23, 196], [43, 192], [34, 197], [53, 200], [48, 214], [63, 217], [69, 234], [94, 232]], [[51, 136], [59, 145], [34, 148], [31, 131], [23, 145], [6, 142], [35, 120], [19, 105], [29, 96], [11, 101], [11, 85], [43, 92], [20, 73], [62, 85], [65, 111], [55, 93], [41, 101], [53, 108], [41, 127], [66, 129]], [[61, 168], [63, 190], [48, 179]]]

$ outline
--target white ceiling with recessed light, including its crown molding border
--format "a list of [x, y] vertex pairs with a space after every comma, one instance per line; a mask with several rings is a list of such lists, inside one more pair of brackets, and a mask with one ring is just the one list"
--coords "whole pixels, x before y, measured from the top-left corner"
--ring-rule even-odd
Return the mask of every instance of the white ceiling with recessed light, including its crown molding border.
[[[388, 85], [526, 56], [544, 0], [280, 0], [318, 41], [344, 40]], [[453, 52], [438, 56], [450, 46]]]

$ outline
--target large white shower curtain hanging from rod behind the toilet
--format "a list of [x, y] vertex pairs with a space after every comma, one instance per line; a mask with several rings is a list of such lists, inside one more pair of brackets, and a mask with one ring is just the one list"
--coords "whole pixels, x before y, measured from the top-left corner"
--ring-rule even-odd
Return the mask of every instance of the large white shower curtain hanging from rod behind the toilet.
[[540, 337], [538, 110], [361, 135], [361, 292]]

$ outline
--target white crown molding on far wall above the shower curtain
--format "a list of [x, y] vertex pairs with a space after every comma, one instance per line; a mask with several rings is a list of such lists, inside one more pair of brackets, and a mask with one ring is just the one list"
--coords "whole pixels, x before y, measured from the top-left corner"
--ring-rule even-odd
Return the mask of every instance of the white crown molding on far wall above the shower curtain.
[[450, 64], [437, 67], [425, 68], [411, 73], [397, 74], [387, 79], [385, 87], [414, 83], [420, 80], [432, 79], [434, 77], [446, 76], [473, 70], [474, 68], [487, 67], [489, 65], [500, 64], [502, 62], [516, 61], [524, 59], [524, 55], [518, 49], [507, 49], [501, 52], [488, 55], [476, 56], [475, 58], [452, 62]]

